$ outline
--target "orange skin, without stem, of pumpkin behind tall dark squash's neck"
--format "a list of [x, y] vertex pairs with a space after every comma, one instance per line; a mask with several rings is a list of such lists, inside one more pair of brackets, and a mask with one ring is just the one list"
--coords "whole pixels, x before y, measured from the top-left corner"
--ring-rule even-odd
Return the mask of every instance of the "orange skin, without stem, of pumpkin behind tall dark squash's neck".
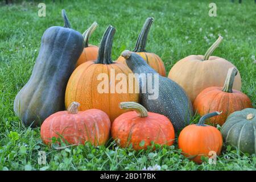
[[82, 51], [79, 60], [77, 61], [76, 68], [86, 61], [93, 61], [96, 60], [98, 57], [98, 47], [89, 45], [89, 47], [85, 47]]

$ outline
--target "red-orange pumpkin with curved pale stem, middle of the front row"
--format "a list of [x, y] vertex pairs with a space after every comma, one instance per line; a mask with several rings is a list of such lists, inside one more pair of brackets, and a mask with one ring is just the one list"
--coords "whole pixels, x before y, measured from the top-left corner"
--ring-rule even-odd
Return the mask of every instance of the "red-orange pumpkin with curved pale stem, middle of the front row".
[[112, 124], [112, 137], [120, 147], [131, 145], [134, 150], [141, 150], [152, 143], [168, 146], [174, 143], [174, 127], [170, 119], [148, 112], [136, 102], [121, 102], [119, 106], [133, 110], [119, 115]]

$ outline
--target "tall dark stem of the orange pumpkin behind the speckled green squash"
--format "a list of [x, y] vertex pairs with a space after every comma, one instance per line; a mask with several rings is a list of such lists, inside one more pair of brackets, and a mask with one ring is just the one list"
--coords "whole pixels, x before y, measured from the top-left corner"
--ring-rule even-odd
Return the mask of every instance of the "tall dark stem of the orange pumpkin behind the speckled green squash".
[[146, 22], [144, 23], [141, 33], [139, 33], [136, 46], [133, 52], [146, 52], [146, 43], [147, 43], [147, 34], [150, 30], [151, 24], [153, 23], [154, 18], [147, 18]]

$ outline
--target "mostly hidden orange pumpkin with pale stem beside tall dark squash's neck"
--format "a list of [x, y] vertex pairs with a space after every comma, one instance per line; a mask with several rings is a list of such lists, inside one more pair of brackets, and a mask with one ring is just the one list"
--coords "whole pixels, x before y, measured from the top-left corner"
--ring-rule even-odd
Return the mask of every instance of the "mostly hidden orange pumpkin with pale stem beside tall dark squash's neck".
[[98, 57], [98, 47], [89, 44], [90, 35], [94, 32], [98, 24], [94, 22], [82, 36], [84, 37], [84, 51], [82, 51], [79, 60], [77, 60], [76, 67], [80, 64], [85, 63], [86, 61], [96, 60]]

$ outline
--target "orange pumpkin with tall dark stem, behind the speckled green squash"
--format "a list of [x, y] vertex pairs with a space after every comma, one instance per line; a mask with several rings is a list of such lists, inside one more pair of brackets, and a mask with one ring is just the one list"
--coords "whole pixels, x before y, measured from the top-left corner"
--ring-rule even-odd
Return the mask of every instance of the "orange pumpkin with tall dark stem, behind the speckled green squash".
[[[136, 52], [138, 55], [140, 55], [147, 62], [147, 64], [150, 65], [150, 67], [153, 68], [160, 75], [166, 76], [166, 68], [164, 68], [164, 63], [162, 59], [155, 53], [147, 52], [145, 49], [146, 42], [147, 42], [147, 35], [153, 21], [154, 21], [154, 18], [146, 19], [146, 22], [142, 27], [141, 33], [138, 36], [136, 46], [133, 52]], [[122, 56], [119, 56], [117, 61], [120, 63], [126, 64], [126, 61]]]

